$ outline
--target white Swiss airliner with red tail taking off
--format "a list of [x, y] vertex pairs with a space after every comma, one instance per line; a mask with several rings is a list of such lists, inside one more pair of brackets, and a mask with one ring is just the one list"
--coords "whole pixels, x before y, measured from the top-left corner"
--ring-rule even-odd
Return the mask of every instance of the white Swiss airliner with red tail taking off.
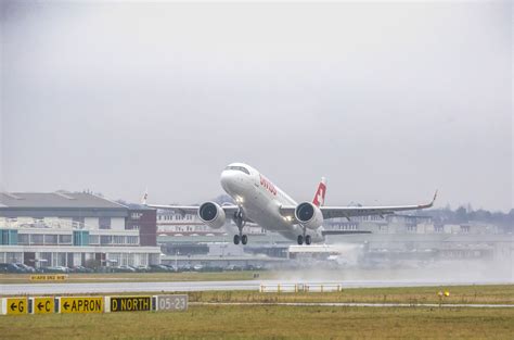
[[330, 218], [354, 216], [389, 215], [399, 211], [421, 210], [434, 205], [437, 191], [432, 202], [417, 205], [397, 206], [325, 206], [326, 179], [321, 178], [311, 202], [297, 203], [283, 190], [254, 167], [244, 163], [229, 164], [221, 172], [221, 187], [234, 200], [235, 204], [205, 202], [200, 206], [147, 204], [147, 192], [143, 204], [159, 210], [172, 210], [180, 214], [197, 214], [200, 219], [210, 228], [221, 228], [228, 218], [237, 226], [234, 244], [246, 244], [247, 235], [243, 234], [246, 223], [255, 223], [267, 230], [281, 234], [298, 244], [323, 242], [325, 235], [333, 234], [369, 234], [358, 230], [324, 230], [323, 222]]

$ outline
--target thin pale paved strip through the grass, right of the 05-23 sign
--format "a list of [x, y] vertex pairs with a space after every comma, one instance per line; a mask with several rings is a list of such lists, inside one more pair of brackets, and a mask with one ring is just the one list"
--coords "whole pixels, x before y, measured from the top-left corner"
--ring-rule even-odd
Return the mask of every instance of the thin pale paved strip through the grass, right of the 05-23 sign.
[[359, 303], [359, 302], [190, 302], [190, 305], [285, 305], [326, 307], [472, 307], [514, 308], [514, 304], [465, 304], [465, 303]]

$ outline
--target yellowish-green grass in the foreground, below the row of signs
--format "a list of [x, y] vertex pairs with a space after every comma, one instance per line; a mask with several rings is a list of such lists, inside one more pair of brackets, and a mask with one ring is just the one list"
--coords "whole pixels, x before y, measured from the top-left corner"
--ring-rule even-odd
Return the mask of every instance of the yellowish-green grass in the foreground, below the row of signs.
[[0, 339], [512, 339], [512, 308], [191, 306], [0, 317]]

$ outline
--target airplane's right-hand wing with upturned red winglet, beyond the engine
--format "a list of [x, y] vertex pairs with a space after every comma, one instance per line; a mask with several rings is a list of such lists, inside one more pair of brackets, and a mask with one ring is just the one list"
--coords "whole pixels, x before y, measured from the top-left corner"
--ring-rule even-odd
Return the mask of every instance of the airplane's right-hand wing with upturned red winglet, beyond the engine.
[[[432, 202], [415, 205], [391, 205], [391, 206], [320, 206], [324, 219], [349, 217], [354, 216], [369, 216], [369, 215], [390, 215], [396, 212], [427, 209], [434, 205], [437, 198], [437, 191], [434, 194]], [[283, 216], [294, 216], [296, 206], [282, 206], [281, 213]]]

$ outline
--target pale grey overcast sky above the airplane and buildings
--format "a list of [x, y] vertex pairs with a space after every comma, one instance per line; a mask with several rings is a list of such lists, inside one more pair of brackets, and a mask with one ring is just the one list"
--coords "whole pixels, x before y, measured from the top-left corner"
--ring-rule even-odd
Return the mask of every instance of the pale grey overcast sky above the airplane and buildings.
[[509, 1], [1, 3], [2, 190], [513, 206]]

